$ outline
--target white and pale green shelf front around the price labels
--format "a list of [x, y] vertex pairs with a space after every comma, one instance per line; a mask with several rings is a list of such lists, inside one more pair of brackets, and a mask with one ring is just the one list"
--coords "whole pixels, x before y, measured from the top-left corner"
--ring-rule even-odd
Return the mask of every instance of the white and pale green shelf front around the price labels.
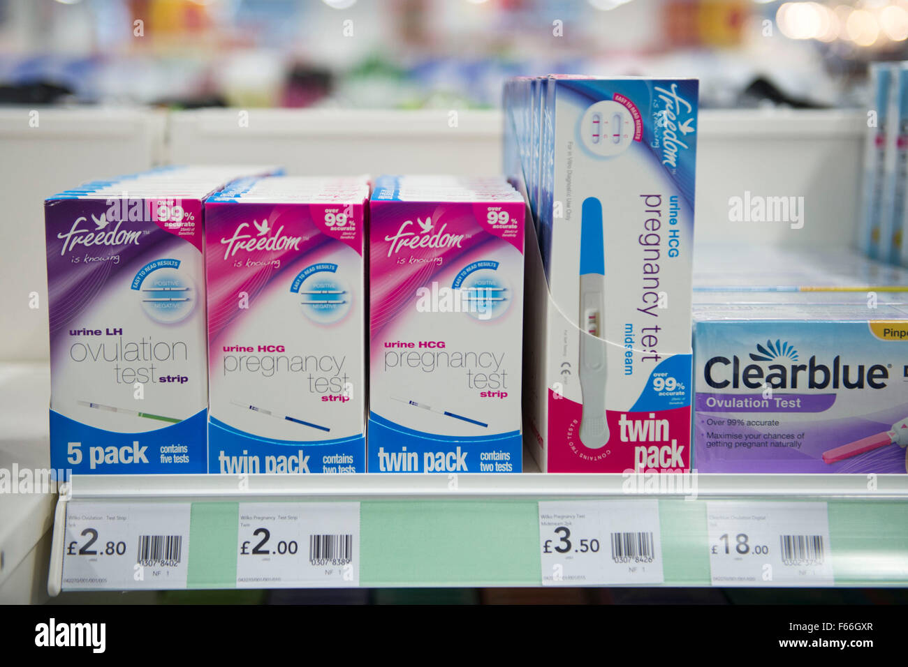
[[241, 503], [351, 500], [360, 504], [360, 586], [538, 586], [539, 501], [654, 498], [662, 585], [711, 585], [706, 504], [717, 500], [822, 501], [835, 585], [908, 584], [908, 476], [695, 475], [684, 486], [676, 478], [661, 488], [646, 488], [647, 480], [652, 484], [652, 477], [539, 474], [75, 477], [57, 507], [48, 588], [66, 588], [65, 518], [80, 504], [101, 504], [112, 514], [152, 504], [163, 517], [190, 503], [190, 589], [236, 586]]

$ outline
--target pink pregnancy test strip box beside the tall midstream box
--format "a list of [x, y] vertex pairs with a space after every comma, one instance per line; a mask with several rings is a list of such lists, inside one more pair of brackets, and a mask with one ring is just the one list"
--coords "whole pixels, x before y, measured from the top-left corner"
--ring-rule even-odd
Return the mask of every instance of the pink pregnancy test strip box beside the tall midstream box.
[[370, 200], [370, 473], [521, 471], [525, 204], [383, 176]]

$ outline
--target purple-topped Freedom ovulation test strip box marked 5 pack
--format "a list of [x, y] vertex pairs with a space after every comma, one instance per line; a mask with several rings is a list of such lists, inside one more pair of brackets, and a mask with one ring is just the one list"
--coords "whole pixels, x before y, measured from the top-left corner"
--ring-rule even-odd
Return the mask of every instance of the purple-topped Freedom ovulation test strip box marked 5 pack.
[[51, 466], [203, 473], [202, 200], [271, 167], [170, 167], [44, 202]]

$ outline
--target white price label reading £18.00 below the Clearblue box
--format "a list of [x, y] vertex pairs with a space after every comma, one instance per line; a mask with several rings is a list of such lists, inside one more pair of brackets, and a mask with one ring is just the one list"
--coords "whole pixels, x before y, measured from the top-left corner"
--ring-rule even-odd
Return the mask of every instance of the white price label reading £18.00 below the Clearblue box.
[[825, 503], [706, 503], [714, 586], [832, 586]]

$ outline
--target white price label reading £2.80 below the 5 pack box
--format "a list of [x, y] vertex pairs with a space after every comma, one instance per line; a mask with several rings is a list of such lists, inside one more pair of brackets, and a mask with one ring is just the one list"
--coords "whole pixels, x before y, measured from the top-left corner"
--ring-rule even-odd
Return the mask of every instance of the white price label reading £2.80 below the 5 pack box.
[[190, 503], [66, 505], [64, 590], [186, 587]]

